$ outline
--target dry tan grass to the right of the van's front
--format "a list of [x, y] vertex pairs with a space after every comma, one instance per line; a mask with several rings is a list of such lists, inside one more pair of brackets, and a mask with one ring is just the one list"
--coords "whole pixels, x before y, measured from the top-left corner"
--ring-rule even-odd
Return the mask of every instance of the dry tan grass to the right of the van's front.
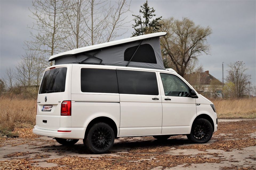
[[218, 118], [256, 118], [256, 98], [211, 100]]

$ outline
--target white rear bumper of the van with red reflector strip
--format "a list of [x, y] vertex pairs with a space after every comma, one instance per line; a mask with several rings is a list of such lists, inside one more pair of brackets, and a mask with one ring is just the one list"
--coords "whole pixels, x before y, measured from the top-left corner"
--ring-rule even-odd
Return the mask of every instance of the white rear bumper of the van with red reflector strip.
[[33, 128], [33, 133], [37, 135], [42, 135], [42, 136], [64, 138], [64, 139], [85, 138], [86, 128], [59, 128], [58, 130], [62, 130], [62, 131], [71, 130], [71, 132], [58, 132], [57, 130], [39, 129], [37, 125], [35, 125]]

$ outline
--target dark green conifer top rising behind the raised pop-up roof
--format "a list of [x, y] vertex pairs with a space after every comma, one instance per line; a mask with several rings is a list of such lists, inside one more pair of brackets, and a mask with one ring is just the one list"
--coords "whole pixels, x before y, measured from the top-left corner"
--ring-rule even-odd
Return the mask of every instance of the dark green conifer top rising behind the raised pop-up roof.
[[[150, 8], [147, 1], [141, 6], [139, 10], [139, 15], [133, 15], [135, 24], [133, 28], [135, 31], [133, 32], [134, 36], [154, 33], [159, 30], [161, 24], [159, 23], [162, 16], [153, 19], [156, 15], [154, 14], [154, 8]], [[143, 18], [141, 18], [141, 14], [143, 14]], [[143, 20], [144, 19], [144, 20]]]

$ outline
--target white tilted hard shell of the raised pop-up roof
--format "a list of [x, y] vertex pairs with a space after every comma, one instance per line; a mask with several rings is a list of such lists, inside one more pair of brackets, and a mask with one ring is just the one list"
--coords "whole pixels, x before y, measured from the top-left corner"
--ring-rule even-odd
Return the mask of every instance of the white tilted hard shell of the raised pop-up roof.
[[78, 54], [78, 53], [83, 53], [83, 52], [88, 52], [91, 50], [96, 50], [96, 49], [102, 49], [110, 46], [115, 46], [119, 44], [124, 44], [124, 43], [130, 43], [133, 41], [139, 41], [139, 40], [144, 40], [144, 39], [150, 39], [153, 37], [160, 37], [160, 36], [165, 36], [166, 32], [157, 32], [157, 33], [152, 33], [152, 34], [146, 34], [146, 35], [141, 35], [141, 36], [136, 36], [136, 37], [130, 37], [122, 40], [116, 40], [116, 41], [110, 41], [107, 43], [102, 43], [102, 44], [97, 44], [97, 45], [91, 45], [91, 46], [86, 46], [82, 48], [77, 48], [73, 49], [67, 52], [55, 54], [49, 58], [49, 61], [53, 61], [56, 58], [59, 58], [61, 56], [67, 56], [67, 55], [73, 55], [73, 54]]

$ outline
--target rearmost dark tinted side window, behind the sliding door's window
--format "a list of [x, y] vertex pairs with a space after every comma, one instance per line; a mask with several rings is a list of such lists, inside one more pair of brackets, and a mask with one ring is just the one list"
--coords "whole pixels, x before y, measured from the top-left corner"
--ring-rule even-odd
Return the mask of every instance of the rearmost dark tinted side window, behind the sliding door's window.
[[118, 93], [116, 70], [81, 69], [81, 91]]

